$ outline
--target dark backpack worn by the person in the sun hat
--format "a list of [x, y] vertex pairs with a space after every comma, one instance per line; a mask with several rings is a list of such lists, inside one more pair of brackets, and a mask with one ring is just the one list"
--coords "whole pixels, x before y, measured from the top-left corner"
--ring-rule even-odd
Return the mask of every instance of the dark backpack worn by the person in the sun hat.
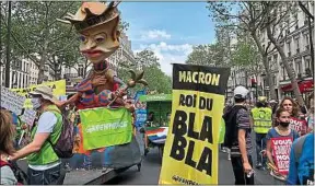
[[74, 147], [74, 126], [70, 121], [68, 117], [65, 116], [65, 114], [60, 113], [56, 109], [48, 109], [51, 112], [56, 112], [62, 116], [62, 126], [61, 126], [61, 133], [59, 139], [55, 144], [52, 144], [50, 138], [48, 138], [48, 142], [52, 147], [55, 153], [60, 159], [70, 159], [73, 156], [73, 147]]

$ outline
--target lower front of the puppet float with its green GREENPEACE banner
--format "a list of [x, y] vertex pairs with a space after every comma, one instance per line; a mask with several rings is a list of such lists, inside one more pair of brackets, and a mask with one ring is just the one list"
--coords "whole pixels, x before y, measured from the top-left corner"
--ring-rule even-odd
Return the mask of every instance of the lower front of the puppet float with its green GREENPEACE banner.
[[74, 155], [65, 160], [72, 170], [124, 168], [141, 162], [139, 143], [132, 136], [131, 113], [125, 107], [84, 109], [79, 114]]

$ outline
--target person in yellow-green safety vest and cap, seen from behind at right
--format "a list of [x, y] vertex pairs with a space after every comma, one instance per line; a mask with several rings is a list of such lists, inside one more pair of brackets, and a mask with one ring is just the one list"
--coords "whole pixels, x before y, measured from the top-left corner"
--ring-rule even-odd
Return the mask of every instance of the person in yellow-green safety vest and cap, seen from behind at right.
[[267, 158], [260, 152], [266, 149], [266, 135], [272, 127], [272, 109], [268, 107], [266, 96], [259, 96], [256, 107], [252, 109], [252, 123], [256, 135], [256, 167], [264, 170], [267, 167]]

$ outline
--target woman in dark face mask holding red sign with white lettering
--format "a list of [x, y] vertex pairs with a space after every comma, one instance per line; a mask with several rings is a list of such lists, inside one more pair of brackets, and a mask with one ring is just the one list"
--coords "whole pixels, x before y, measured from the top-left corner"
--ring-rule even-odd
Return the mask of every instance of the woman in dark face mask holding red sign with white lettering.
[[276, 177], [276, 185], [284, 184], [289, 171], [289, 155], [292, 142], [299, 138], [299, 133], [290, 126], [291, 115], [287, 109], [279, 108], [276, 112], [277, 127], [271, 128], [267, 136], [267, 158], [268, 166], [271, 168], [270, 175]]

